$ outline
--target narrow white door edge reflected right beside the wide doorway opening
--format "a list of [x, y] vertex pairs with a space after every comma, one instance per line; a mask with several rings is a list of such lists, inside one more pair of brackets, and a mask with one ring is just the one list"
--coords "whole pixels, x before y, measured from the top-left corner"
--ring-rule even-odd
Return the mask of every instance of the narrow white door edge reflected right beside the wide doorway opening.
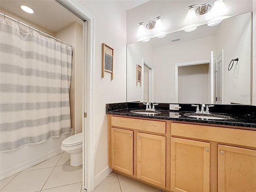
[[209, 62], [209, 103], [214, 103], [214, 58], [213, 51], [210, 54], [210, 62]]

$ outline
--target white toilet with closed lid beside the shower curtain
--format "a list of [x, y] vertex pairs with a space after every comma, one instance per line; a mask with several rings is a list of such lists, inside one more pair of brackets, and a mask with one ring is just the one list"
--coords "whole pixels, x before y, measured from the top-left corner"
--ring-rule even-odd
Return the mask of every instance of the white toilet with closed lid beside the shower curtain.
[[82, 165], [82, 133], [74, 134], [62, 141], [60, 149], [70, 153], [70, 165]]

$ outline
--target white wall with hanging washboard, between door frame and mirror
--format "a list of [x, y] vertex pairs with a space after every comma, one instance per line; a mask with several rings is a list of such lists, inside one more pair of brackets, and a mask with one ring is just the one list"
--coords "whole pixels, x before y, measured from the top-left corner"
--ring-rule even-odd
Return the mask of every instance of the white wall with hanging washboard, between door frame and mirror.
[[[93, 130], [95, 184], [111, 171], [108, 168], [108, 123], [106, 103], [126, 102], [126, 11], [118, 1], [77, 0], [95, 18]], [[102, 78], [102, 43], [114, 48], [114, 80]]]

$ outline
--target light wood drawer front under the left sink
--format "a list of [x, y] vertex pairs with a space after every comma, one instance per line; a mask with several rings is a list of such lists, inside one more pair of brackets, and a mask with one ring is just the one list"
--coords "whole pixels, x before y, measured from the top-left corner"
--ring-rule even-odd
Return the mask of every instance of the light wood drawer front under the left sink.
[[162, 134], [166, 133], [166, 122], [162, 121], [112, 116], [111, 125], [114, 127], [122, 127], [141, 131], [149, 131]]

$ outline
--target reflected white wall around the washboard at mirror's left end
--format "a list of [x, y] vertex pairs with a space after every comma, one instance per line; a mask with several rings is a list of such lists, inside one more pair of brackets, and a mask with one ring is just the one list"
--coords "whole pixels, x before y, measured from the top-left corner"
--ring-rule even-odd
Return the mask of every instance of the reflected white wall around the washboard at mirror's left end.
[[[144, 71], [142, 58], [151, 66], [153, 64], [153, 48], [149, 43], [138, 42], [136, 44], [127, 45], [127, 101], [142, 100], [143, 87], [140, 84], [136, 85], [136, 66], [139, 64]], [[143, 81], [143, 79], [142, 79]], [[142, 82], [143, 83], [143, 82]]]

